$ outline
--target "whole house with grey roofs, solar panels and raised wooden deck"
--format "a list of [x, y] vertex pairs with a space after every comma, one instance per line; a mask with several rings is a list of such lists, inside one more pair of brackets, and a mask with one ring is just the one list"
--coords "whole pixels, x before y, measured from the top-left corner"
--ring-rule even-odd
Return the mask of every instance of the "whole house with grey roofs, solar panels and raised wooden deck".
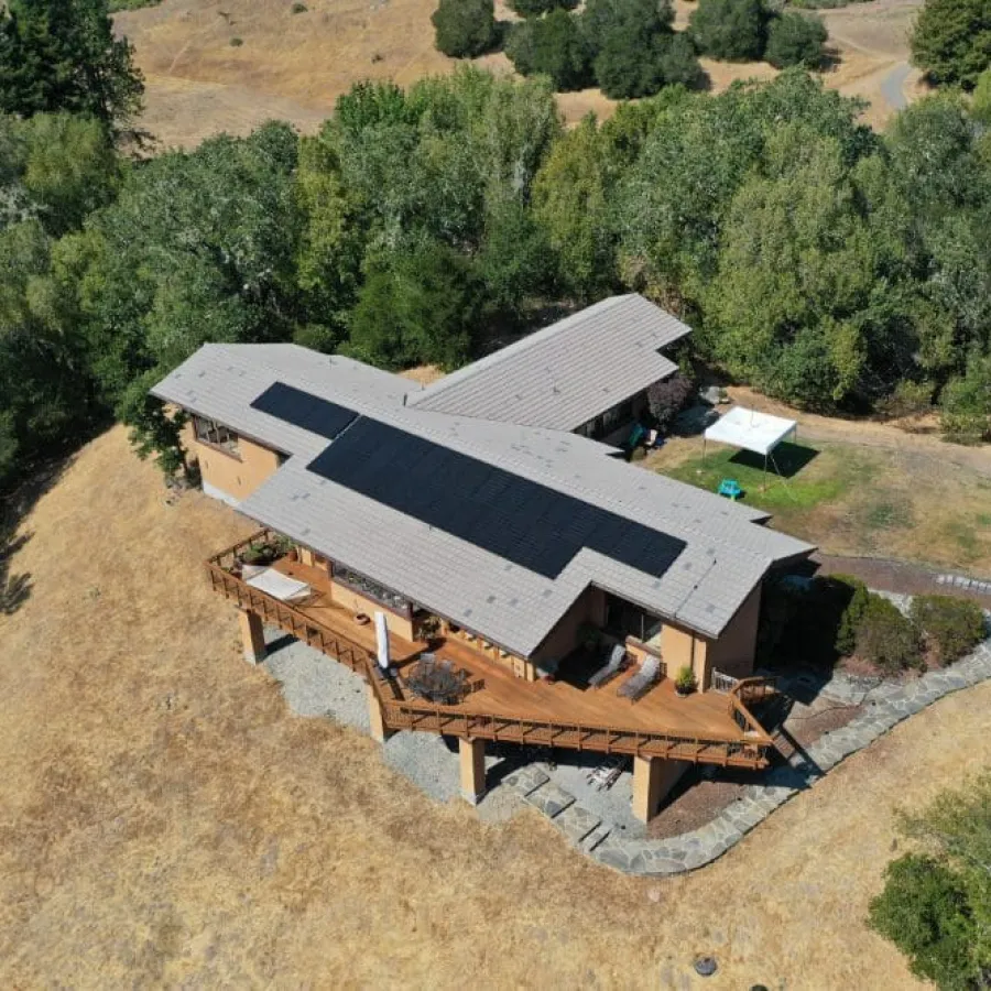
[[265, 527], [255, 548], [292, 547], [272, 580], [308, 596], [249, 578], [252, 542], [208, 563], [249, 657], [268, 622], [358, 669], [380, 738], [459, 738], [471, 801], [487, 740], [630, 754], [642, 818], [691, 762], [764, 766], [742, 680], [761, 588], [813, 548], [593, 439], [629, 429], [686, 333], [618, 296], [426, 389], [295, 345], [204, 346], [153, 393], [190, 415], [204, 490]]

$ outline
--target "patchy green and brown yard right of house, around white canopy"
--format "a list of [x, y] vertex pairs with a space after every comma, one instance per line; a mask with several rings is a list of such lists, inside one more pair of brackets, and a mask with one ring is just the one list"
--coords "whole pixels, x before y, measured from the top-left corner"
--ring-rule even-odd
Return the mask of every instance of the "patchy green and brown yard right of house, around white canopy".
[[645, 467], [715, 492], [733, 478], [748, 504], [774, 514], [773, 525], [829, 554], [895, 557], [991, 575], [991, 479], [913, 449], [854, 443], [783, 444], [766, 480], [763, 458], [675, 437]]

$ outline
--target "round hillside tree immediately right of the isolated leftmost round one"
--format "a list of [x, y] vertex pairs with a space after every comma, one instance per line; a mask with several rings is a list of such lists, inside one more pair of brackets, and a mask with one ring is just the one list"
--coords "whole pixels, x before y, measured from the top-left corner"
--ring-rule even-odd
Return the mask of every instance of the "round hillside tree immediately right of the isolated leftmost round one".
[[510, 32], [505, 54], [524, 76], [549, 76], [558, 91], [582, 89], [591, 80], [591, 53], [577, 19], [552, 10], [538, 20], [524, 21]]

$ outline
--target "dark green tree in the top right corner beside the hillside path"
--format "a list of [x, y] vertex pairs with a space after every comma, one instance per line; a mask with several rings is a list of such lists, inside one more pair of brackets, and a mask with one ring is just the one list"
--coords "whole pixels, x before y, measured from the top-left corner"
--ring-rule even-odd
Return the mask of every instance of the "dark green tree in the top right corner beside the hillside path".
[[973, 89], [991, 66], [991, 0], [926, 0], [911, 47], [933, 83]]

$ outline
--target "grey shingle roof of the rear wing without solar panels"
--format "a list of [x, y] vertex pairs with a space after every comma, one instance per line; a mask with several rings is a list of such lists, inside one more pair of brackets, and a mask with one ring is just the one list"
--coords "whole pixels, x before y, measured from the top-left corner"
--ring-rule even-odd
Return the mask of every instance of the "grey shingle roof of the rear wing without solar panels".
[[574, 431], [676, 371], [660, 350], [688, 333], [643, 296], [612, 296], [446, 375], [410, 403]]

